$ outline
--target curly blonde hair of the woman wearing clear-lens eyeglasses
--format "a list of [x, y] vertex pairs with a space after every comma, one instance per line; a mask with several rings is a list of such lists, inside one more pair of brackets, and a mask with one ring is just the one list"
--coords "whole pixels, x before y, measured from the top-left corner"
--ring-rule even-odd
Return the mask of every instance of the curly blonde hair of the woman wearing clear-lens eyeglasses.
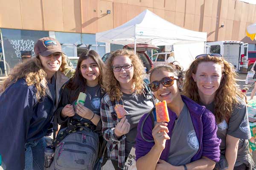
[[116, 56], [127, 56], [131, 59], [132, 65], [134, 67], [134, 76], [133, 80], [135, 83], [135, 90], [137, 94], [141, 94], [143, 92], [143, 75], [145, 74], [143, 62], [134, 54], [134, 51], [131, 50], [117, 50], [111, 52], [111, 56], [107, 59], [106, 70], [104, 76], [104, 87], [106, 92], [108, 93], [110, 99], [120, 100], [122, 97], [122, 91], [120, 90], [119, 82], [116, 80], [113, 69], [112, 62]]

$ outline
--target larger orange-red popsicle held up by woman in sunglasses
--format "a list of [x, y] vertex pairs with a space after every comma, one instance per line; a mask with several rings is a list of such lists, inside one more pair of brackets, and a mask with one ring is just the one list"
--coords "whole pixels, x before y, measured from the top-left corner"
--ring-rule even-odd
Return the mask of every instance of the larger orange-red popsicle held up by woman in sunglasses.
[[166, 101], [156, 103], [157, 122], [169, 122], [169, 113]]

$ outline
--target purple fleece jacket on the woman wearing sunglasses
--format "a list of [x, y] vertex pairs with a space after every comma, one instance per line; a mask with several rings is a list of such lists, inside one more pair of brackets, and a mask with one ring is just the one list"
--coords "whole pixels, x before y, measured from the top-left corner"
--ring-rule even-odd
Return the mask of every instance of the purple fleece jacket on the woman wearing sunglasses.
[[[187, 105], [187, 108], [189, 109], [189, 113], [191, 115], [191, 119], [192, 119], [192, 123], [194, 125], [194, 129], [195, 129], [195, 133], [196, 136], [198, 138], [198, 142], [199, 142], [199, 149], [198, 152], [195, 154], [195, 156], [192, 157], [191, 161], [196, 161], [198, 159], [201, 159], [202, 156], [206, 156], [207, 158], [218, 162], [219, 161], [219, 156], [220, 156], [220, 150], [219, 150], [219, 144], [220, 144], [220, 140], [217, 138], [216, 132], [217, 132], [217, 125], [215, 123], [215, 117], [214, 115], [208, 111], [204, 106], [198, 105], [196, 102], [194, 102], [193, 100], [187, 98], [186, 96], [182, 96], [182, 100], [183, 102]], [[176, 113], [174, 113], [173, 111], [171, 111], [168, 108], [169, 111], [169, 117], [170, 117], [170, 122], [168, 123], [167, 127], [169, 129], [169, 136], [172, 136], [172, 130], [174, 127], [174, 123], [175, 123], [175, 119], [177, 118]], [[203, 116], [203, 114], [207, 115], [207, 116]], [[140, 127], [142, 124], [142, 120], [145, 119], [145, 116], [147, 114], [143, 115], [143, 117], [140, 119], [140, 122], [138, 124], [138, 128], [137, 128], [137, 140], [142, 141], [142, 137], [140, 134]], [[204, 128], [204, 125], [211, 125], [211, 127], [207, 127]], [[208, 130], [204, 131], [203, 130]], [[204, 134], [208, 134], [208, 133], [212, 133], [211, 131], [215, 131], [213, 134], [213, 138], [210, 139], [209, 141], [206, 140], [203, 142], [203, 133]], [[153, 139], [151, 136], [152, 133], [152, 123], [151, 123], [151, 119], [148, 117], [147, 120], [145, 121], [145, 125], [143, 126], [143, 134], [145, 134], [145, 138], [146, 139]], [[171, 140], [166, 140], [166, 147], [163, 150], [160, 159], [163, 159], [165, 161], [167, 161], [168, 159], [168, 155], [169, 155], [169, 149], [170, 149], [170, 144], [171, 144]], [[204, 144], [204, 146], [203, 146]], [[136, 160], [139, 159], [140, 157], [144, 156], [146, 153], [148, 153], [150, 150], [147, 150], [148, 148], [151, 148], [154, 145], [153, 143], [149, 143], [149, 142], [143, 142], [143, 145], [145, 145], [145, 148], [143, 148], [144, 150], [140, 150], [140, 148], [138, 148], [139, 146], [137, 146], [137, 144], [135, 145], [135, 147], [138, 149], [136, 152]], [[141, 145], [140, 145], [141, 146]], [[204, 148], [203, 148], [204, 147]], [[204, 150], [205, 152], [204, 152]], [[204, 153], [203, 153], [204, 152]]]

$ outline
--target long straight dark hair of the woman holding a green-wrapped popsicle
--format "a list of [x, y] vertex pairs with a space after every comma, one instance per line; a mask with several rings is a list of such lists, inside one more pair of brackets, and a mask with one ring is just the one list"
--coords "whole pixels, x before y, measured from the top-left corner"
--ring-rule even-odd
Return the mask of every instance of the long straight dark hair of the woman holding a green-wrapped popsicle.
[[[80, 66], [81, 66], [82, 61], [84, 61], [84, 59], [88, 59], [88, 58], [92, 58], [99, 66], [99, 85], [103, 89], [102, 75], [104, 75], [105, 64], [96, 51], [93, 51], [93, 50], [84, 51], [79, 56], [78, 63], [76, 66], [76, 72], [75, 72], [74, 76], [67, 83], [67, 88], [69, 88], [71, 90], [69, 93], [70, 101], [75, 100], [78, 97], [79, 92], [86, 91], [86, 79], [83, 77], [83, 75], [81, 73]], [[74, 91], [75, 91], [75, 93], [74, 93]]]

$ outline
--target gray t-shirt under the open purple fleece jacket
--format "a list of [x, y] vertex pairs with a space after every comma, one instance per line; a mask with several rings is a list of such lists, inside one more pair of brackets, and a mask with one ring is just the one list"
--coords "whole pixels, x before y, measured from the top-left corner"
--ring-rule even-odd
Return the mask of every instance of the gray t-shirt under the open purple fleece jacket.
[[185, 103], [180, 116], [175, 120], [170, 140], [168, 162], [174, 166], [190, 163], [198, 152], [199, 142]]

